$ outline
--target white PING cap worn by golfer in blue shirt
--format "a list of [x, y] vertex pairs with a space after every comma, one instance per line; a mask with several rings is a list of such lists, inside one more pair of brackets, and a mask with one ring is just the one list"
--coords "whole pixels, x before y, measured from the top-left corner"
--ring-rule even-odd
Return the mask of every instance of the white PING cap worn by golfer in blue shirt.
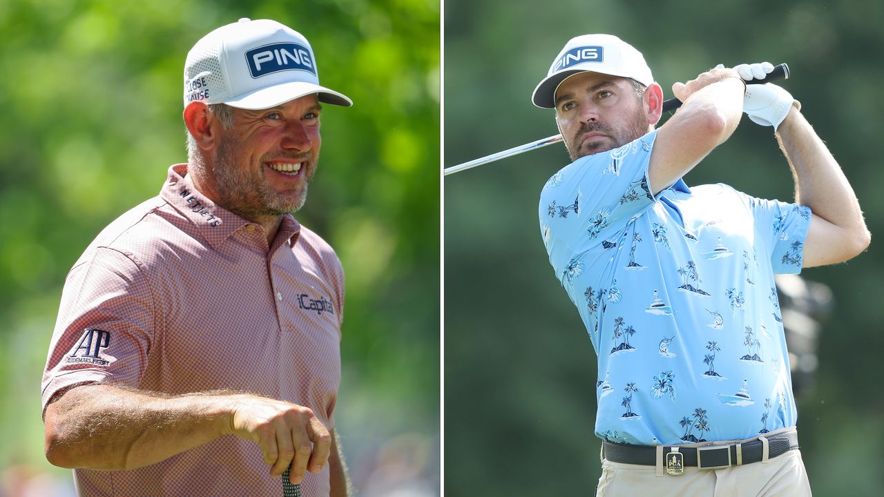
[[654, 82], [642, 52], [613, 34], [583, 34], [571, 38], [555, 57], [546, 78], [534, 88], [531, 101], [537, 107], [555, 108], [555, 92], [562, 81], [576, 73], [610, 74], [632, 78], [644, 86]]

